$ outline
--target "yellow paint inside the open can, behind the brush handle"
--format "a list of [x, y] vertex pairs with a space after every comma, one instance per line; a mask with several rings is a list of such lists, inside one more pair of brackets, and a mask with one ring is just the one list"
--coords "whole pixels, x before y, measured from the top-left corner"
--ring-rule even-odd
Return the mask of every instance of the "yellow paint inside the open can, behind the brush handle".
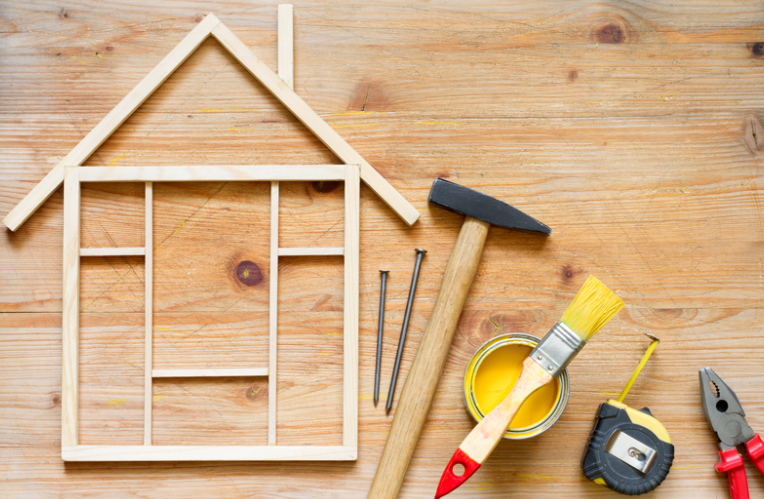
[[[522, 363], [531, 353], [531, 348], [525, 345], [506, 345], [491, 352], [478, 366], [475, 375], [473, 392], [478, 408], [483, 414], [504, 400], [520, 376]], [[510, 423], [510, 429], [527, 428], [544, 421], [557, 404], [559, 396], [557, 380], [546, 384], [526, 399], [515, 418]]]

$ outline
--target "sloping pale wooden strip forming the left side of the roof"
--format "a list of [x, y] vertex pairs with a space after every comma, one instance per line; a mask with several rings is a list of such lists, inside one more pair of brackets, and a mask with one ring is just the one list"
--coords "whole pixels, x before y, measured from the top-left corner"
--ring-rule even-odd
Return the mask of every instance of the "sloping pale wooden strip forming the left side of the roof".
[[194, 50], [210, 36], [220, 21], [209, 14], [162, 61], [93, 128], [72, 151], [3, 219], [11, 230], [18, 229], [61, 185], [65, 166], [79, 166], [143, 104]]

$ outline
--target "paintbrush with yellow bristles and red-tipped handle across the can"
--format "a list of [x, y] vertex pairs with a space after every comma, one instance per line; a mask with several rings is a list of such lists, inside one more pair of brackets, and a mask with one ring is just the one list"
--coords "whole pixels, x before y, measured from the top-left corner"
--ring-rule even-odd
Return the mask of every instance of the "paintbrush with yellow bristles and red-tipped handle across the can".
[[[557, 378], [586, 342], [623, 308], [623, 301], [593, 276], [584, 283], [560, 322], [525, 361], [509, 395], [467, 435], [440, 477], [435, 499], [467, 481], [488, 459], [520, 406], [533, 392]], [[463, 468], [457, 475], [454, 467]], [[461, 470], [460, 470], [461, 471]]]

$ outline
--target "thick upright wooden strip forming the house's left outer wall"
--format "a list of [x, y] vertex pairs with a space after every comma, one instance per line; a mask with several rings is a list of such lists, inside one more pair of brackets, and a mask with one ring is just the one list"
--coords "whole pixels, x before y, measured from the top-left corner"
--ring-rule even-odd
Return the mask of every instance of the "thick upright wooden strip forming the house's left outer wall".
[[64, 291], [62, 317], [61, 445], [77, 445], [79, 425], [80, 182], [78, 167], [65, 169]]

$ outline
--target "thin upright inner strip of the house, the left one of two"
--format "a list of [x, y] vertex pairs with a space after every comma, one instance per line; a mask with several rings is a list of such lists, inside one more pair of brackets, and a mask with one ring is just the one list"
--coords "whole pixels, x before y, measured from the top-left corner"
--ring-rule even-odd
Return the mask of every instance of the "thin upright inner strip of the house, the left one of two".
[[154, 184], [146, 182], [146, 208], [144, 218], [144, 248], [146, 258], [144, 260], [144, 274], [146, 283], [146, 318], [144, 322], [145, 340], [145, 372], [144, 400], [143, 400], [143, 444], [151, 445], [151, 413], [153, 407], [153, 380], [151, 376], [154, 351]]

